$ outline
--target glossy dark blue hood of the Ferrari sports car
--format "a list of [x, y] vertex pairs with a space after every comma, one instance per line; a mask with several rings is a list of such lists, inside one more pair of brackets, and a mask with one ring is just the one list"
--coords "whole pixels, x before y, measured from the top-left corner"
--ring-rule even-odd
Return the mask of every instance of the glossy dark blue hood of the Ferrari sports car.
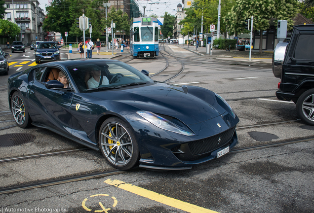
[[[190, 90], [190, 92], [189, 92]], [[199, 93], [200, 96], [195, 94]], [[215, 93], [200, 87], [181, 87], [166, 83], [137, 86], [129, 89], [94, 92], [89, 95], [102, 101], [113, 101], [131, 110], [145, 110], [175, 117], [186, 125], [203, 122], [224, 112], [218, 105]], [[99, 103], [101, 105], [101, 103]], [[115, 111], [115, 107], [111, 109]], [[118, 111], [116, 111], [119, 113]]]

